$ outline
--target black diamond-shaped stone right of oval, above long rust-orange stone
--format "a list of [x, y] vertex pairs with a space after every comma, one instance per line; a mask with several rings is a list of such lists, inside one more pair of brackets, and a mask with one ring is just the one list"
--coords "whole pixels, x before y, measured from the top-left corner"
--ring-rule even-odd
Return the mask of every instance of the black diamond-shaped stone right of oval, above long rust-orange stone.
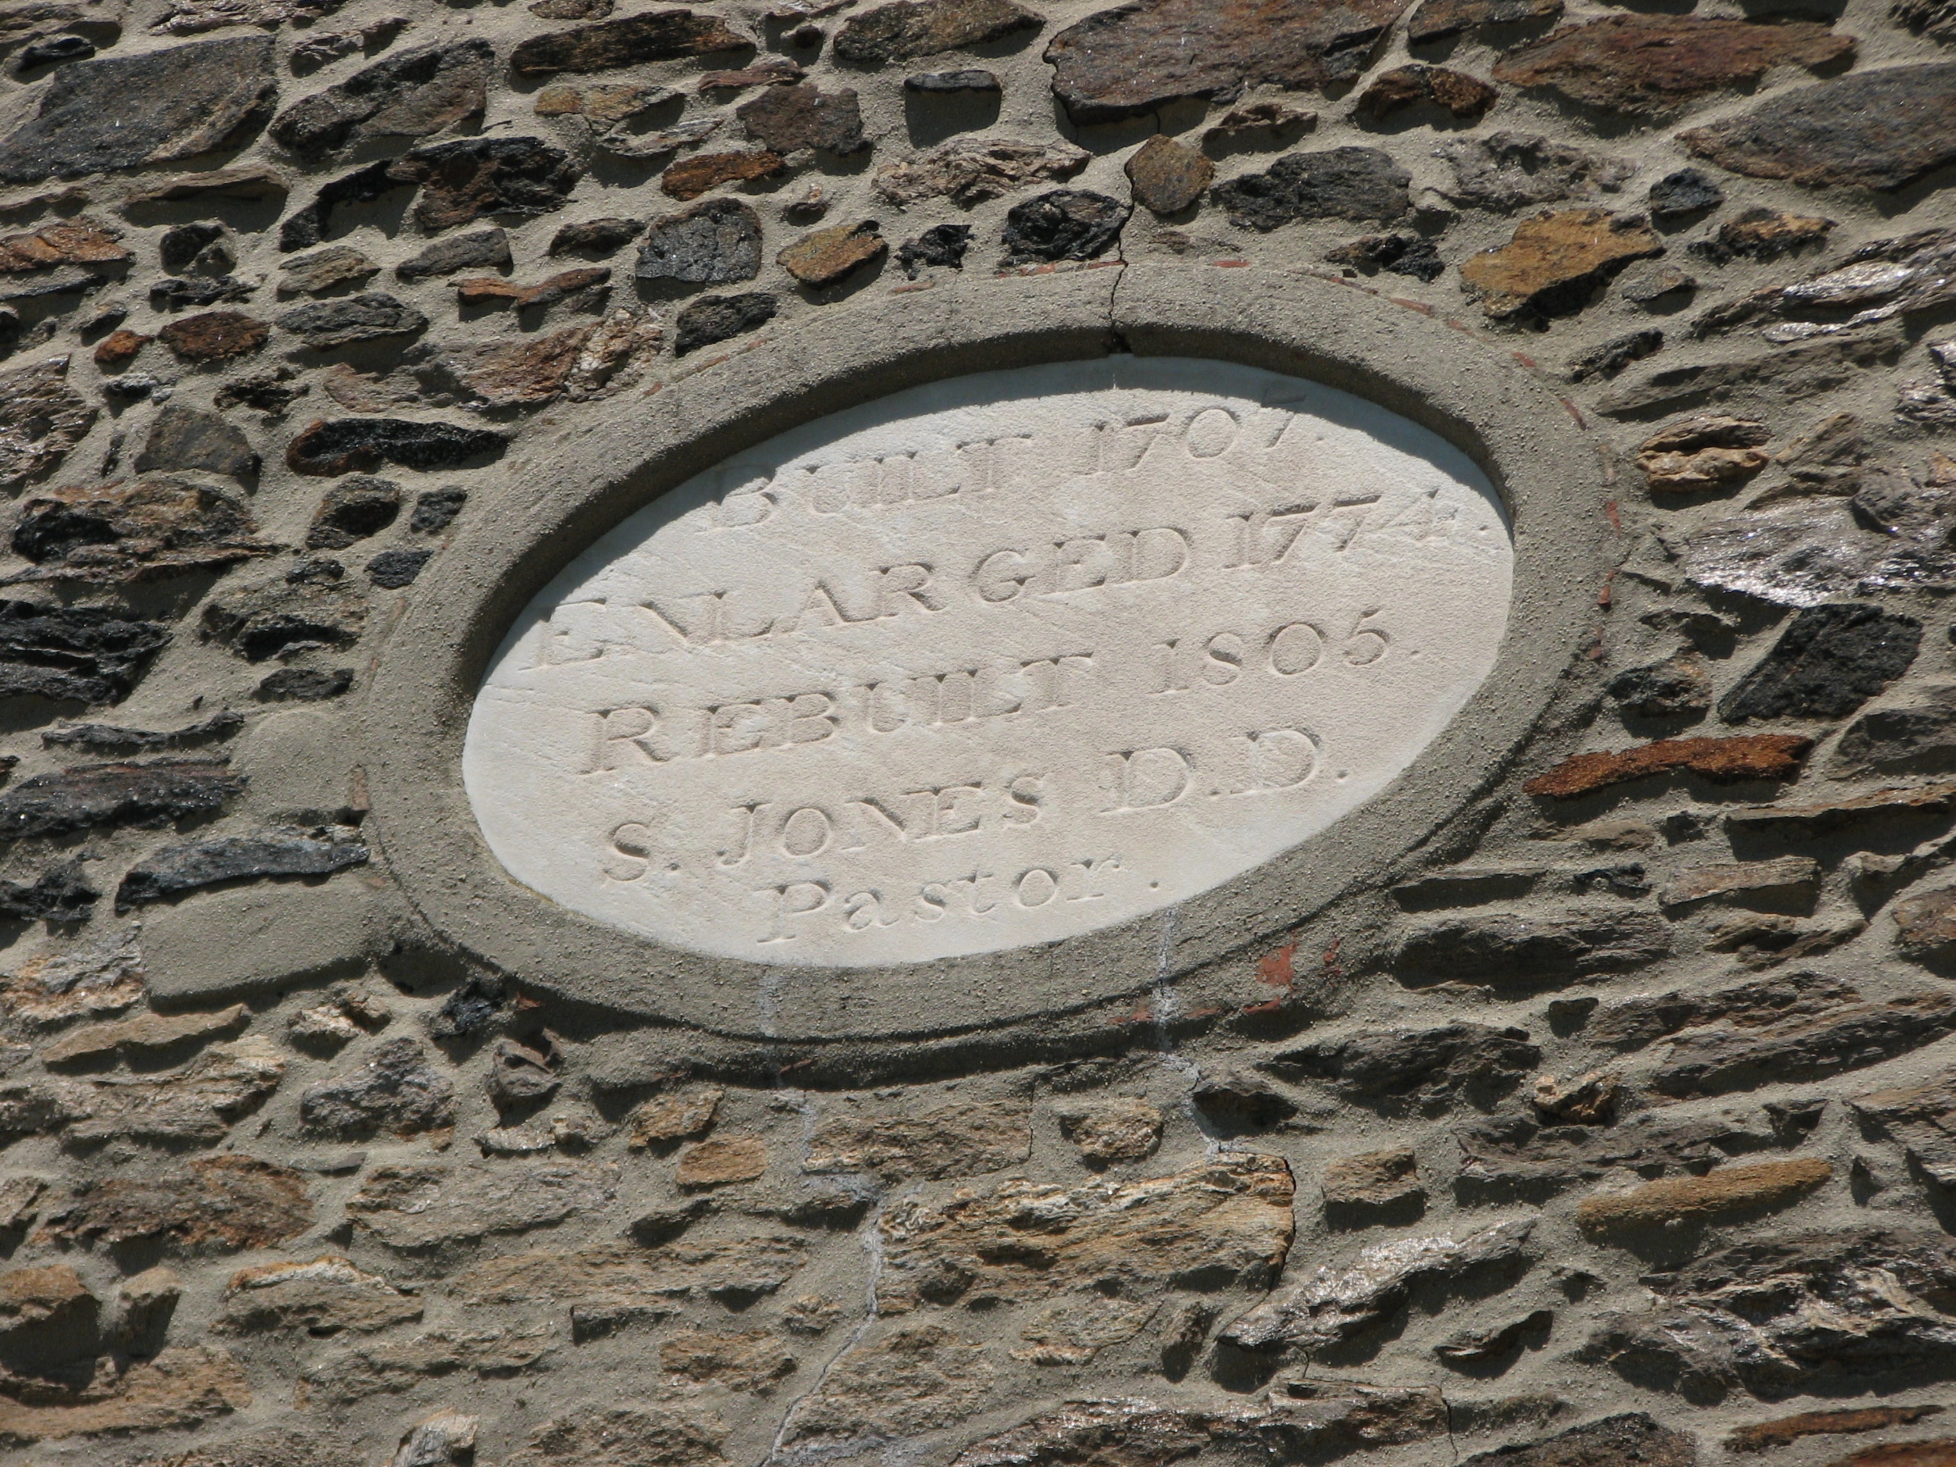
[[1737, 687], [1719, 718], [1845, 718], [1915, 661], [1923, 624], [1864, 602], [1807, 606]]

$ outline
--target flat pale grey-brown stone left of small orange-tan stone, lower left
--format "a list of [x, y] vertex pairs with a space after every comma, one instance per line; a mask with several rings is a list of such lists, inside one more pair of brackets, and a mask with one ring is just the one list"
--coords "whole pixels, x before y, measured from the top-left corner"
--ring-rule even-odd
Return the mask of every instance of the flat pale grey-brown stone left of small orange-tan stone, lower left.
[[376, 1166], [346, 1201], [358, 1228], [403, 1252], [528, 1232], [602, 1207], [616, 1168], [585, 1162]]

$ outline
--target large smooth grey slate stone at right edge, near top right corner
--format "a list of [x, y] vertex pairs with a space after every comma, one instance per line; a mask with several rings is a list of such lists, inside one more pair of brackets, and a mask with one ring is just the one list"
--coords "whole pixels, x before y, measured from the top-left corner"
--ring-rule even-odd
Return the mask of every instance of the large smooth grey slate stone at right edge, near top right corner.
[[1743, 117], [1678, 141], [1735, 174], [1893, 192], [1956, 160], [1956, 61], [1776, 92]]

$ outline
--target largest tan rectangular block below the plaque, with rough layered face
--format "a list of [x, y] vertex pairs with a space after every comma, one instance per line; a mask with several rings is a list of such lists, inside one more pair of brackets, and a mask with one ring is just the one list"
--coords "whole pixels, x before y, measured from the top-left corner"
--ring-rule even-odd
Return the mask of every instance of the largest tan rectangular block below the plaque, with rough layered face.
[[[1050, 1299], [1119, 1279], [1123, 1297], [1197, 1279], [1267, 1285], [1291, 1248], [1291, 1170], [1275, 1156], [1221, 1152], [1146, 1181], [1064, 1189], [1005, 1181], [927, 1203], [906, 1197], [878, 1221], [884, 1312], [953, 1299]], [[1046, 1219], [1025, 1248], [1023, 1219]], [[1211, 1287], [1205, 1283], [1203, 1287]]]

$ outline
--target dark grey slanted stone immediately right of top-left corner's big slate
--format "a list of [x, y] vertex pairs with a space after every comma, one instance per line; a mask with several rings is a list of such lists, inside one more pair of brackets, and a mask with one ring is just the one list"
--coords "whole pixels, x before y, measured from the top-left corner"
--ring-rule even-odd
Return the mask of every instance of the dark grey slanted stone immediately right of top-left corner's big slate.
[[272, 141], [319, 160], [381, 137], [430, 137], [481, 121], [495, 51], [487, 41], [391, 55], [286, 108]]

